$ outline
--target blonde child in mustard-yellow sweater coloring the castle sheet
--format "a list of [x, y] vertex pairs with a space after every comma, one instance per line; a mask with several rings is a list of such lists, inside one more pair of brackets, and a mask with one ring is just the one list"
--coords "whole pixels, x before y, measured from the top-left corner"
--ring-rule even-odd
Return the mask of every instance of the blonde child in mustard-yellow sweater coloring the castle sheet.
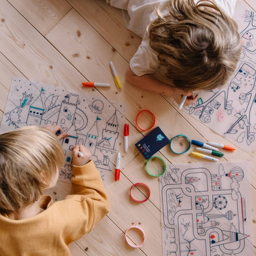
[[[50, 129], [26, 126], [0, 135], [0, 255], [70, 255], [69, 245], [108, 213], [108, 198], [90, 151], [73, 147], [72, 195], [42, 195], [53, 188], [63, 150]], [[81, 151], [83, 156], [78, 155]]]

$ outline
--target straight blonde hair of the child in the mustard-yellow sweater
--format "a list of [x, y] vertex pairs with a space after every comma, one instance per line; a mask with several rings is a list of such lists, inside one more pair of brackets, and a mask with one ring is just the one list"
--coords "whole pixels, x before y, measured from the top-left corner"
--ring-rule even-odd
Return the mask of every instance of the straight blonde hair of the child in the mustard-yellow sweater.
[[35, 202], [63, 166], [56, 135], [26, 126], [0, 135], [0, 213], [18, 212]]

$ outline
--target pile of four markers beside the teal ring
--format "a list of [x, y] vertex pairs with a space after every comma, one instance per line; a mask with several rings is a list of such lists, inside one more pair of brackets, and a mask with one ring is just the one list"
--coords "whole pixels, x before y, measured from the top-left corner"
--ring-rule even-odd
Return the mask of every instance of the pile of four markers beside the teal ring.
[[[221, 153], [218, 148], [222, 148], [223, 150], [228, 150], [234, 152], [236, 149], [233, 148], [233, 146], [223, 145], [220, 143], [215, 142], [198, 142], [198, 140], [191, 140], [191, 143], [196, 146], [200, 146], [200, 148], [196, 148], [196, 150], [201, 151], [203, 153], [211, 154], [212, 156], [218, 156], [219, 158], [222, 158], [224, 156], [223, 153]], [[207, 154], [202, 154], [198, 152], [191, 152], [191, 156], [194, 156], [196, 158], [204, 158], [207, 160], [215, 161], [217, 162], [217, 158], [213, 158], [212, 156], [208, 156]]]

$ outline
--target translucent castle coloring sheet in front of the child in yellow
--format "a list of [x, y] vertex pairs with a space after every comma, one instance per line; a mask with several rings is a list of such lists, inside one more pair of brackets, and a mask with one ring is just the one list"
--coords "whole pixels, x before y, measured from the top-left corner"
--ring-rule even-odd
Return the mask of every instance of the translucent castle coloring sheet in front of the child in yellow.
[[[124, 106], [120, 105], [120, 108]], [[124, 112], [123, 109], [121, 111]], [[60, 124], [69, 137], [60, 141], [65, 154], [65, 166], [59, 180], [70, 182], [71, 147], [81, 144], [89, 148], [106, 185], [114, 179], [113, 162], [116, 161], [123, 123], [121, 112], [103, 97], [92, 98], [41, 82], [14, 78], [0, 132], [27, 125]]]

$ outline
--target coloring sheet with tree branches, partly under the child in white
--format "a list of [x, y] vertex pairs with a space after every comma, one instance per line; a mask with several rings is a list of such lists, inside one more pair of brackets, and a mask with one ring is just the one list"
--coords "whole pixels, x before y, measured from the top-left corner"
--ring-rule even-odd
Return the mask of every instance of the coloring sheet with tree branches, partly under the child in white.
[[218, 134], [249, 151], [256, 135], [256, 14], [238, 1], [234, 20], [242, 40], [242, 55], [227, 86], [200, 92], [184, 109]]

